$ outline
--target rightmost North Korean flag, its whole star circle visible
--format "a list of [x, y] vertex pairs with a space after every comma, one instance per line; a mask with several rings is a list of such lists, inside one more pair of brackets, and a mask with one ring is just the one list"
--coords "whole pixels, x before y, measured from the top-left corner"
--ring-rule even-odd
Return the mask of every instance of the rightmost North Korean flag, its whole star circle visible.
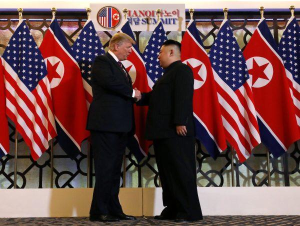
[[264, 18], [260, 19], [243, 54], [252, 78], [261, 141], [278, 157], [300, 134], [284, 65]]

